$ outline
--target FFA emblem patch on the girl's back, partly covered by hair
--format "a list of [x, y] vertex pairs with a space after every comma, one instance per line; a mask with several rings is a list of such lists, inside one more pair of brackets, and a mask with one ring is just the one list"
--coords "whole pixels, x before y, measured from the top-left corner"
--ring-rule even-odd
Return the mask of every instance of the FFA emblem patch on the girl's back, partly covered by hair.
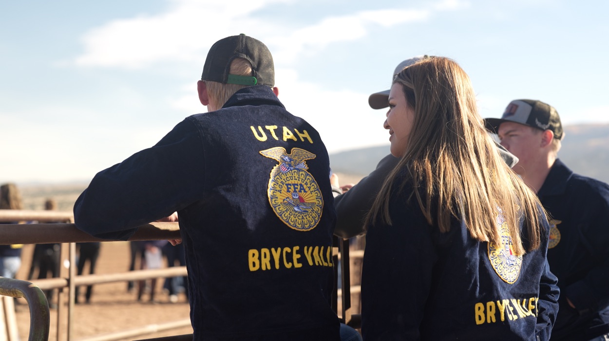
[[523, 264], [523, 257], [514, 255], [512, 236], [510, 236], [510, 232], [507, 229], [507, 222], [501, 208], [498, 208], [498, 210], [497, 224], [501, 234], [501, 245], [496, 246], [493, 243], [488, 243], [488, 259], [491, 261], [491, 266], [493, 266], [497, 275], [505, 283], [513, 284], [518, 280], [520, 267]]

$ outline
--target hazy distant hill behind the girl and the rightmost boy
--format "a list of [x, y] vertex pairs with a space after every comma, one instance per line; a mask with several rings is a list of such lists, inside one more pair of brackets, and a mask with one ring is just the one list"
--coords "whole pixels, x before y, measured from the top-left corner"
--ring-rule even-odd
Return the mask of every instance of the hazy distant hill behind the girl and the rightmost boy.
[[[576, 173], [609, 183], [609, 124], [565, 126], [558, 157]], [[330, 155], [335, 173], [365, 176], [389, 154], [389, 145], [343, 151]]]

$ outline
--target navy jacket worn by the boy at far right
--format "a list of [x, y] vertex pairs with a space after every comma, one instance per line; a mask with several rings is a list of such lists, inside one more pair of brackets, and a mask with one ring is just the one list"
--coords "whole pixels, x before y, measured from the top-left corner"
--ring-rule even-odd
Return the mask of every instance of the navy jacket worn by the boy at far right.
[[609, 185], [557, 159], [538, 196], [550, 215], [547, 261], [561, 291], [552, 340], [609, 333]]

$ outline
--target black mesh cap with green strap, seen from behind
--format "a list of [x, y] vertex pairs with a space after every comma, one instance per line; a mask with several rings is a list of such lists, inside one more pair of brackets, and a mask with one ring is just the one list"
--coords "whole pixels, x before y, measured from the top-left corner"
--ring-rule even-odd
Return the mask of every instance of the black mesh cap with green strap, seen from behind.
[[[245, 58], [252, 63], [252, 77], [230, 75], [230, 64], [234, 58]], [[207, 53], [201, 80], [225, 84], [275, 85], [275, 67], [269, 48], [251, 36], [228, 36], [216, 41]]]

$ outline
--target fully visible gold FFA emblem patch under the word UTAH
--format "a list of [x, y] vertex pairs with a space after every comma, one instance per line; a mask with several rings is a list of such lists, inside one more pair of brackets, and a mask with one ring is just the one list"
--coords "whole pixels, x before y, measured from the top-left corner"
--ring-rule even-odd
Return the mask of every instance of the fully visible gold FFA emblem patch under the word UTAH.
[[322, 218], [323, 198], [315, 178], [306, 171], [305, 160], [315, 159], [316, 155], [300, 148], [287, 154], [283, 147], [262, 150], [260, 154], [279, 162], [270, 171], [267, 191], [275, 214], [294, 230], [314, 229]]

